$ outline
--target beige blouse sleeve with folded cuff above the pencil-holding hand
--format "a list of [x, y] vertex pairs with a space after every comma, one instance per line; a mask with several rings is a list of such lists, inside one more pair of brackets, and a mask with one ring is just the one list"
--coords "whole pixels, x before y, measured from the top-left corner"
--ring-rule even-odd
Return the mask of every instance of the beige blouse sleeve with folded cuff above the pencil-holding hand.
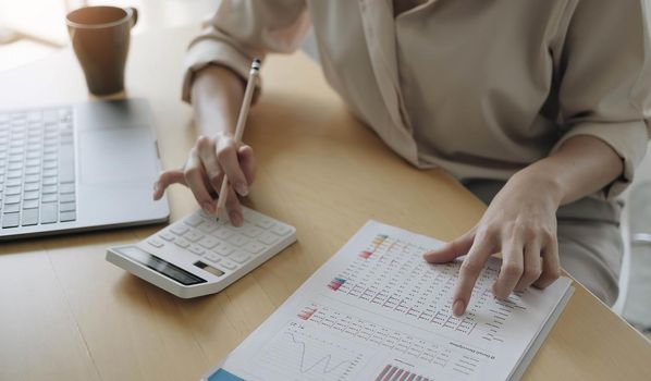
[[191, 101], [194, 73], [206, 65], [223, 65], [246, 81], [254, 58], [295, 51], [309, 26], [305, 0], [222, 0], [189, 44], [184, 61], [183, 100]]

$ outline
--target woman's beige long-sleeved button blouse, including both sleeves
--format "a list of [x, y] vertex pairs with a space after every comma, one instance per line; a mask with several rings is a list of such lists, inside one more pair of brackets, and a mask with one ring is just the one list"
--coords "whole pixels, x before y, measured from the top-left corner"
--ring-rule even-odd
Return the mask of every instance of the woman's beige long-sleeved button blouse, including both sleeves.
[[[395, 0], [401, 1], [401, 0]], [[246, 77], [314, 26], [326, 77], [395, 152], [458, 179], [506, 180], [567, 138], [623, 158], [621, 193], [651, 135], [648, 0], [222, 0], [186, 57]]]

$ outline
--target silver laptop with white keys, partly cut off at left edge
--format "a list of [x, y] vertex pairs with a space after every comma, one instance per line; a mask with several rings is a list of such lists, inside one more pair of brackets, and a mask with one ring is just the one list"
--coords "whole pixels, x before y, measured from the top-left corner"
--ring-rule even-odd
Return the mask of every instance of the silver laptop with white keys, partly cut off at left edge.
[[143, 99], [0, 110], [0, 239], [168, 220]]

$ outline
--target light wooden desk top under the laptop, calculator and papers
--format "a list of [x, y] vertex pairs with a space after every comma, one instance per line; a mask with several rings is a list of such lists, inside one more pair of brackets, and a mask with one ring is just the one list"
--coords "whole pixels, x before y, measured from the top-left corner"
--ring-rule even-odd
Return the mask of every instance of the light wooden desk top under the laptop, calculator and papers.
[[[197, 27], [136, 36], [127, 86], [150, 100], [164, 165], [195, 139], [179, 100]], [[259, 325], [368, 219], [451, 239], [483, 206], [440, 171], [418, 171], [355, 121], [303, 53], [272, 57], [245, 140], [259, 171], [247, 204], [298, 243], [218, 295], [179, 299], [105, 261], [106, 247], [161, 226], [0, 246], [0, 380], [196, 380]], [[0, 74], [2, 108], [87, 99], [70, 50]], [[391, 201], [401, 195], [401, 201]], [[172, 220], [195, 210], [171, 190]], [[580, 285], [526, 380], [651, 380], [651, 345]], [[489, 376], [487, 376], [489, 377]]]

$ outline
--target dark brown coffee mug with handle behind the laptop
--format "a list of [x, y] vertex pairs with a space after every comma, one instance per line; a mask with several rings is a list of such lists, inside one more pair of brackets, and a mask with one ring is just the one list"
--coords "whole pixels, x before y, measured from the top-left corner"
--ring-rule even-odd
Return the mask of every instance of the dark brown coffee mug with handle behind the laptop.
[[91, 94], [124, 90], [131, 29], [137, 21], [135, 8], [116, 7], [85, 7], [65, 17], [72, 47]]

